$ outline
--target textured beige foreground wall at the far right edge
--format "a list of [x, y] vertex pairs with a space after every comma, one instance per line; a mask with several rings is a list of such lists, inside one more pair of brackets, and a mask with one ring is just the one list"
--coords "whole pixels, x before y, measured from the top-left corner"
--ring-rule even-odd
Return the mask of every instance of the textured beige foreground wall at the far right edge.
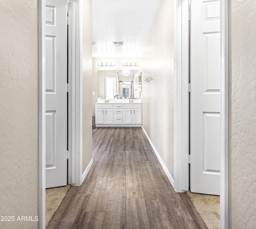
[[230, 0], [230, 228], [256, 228], [256, 1]]

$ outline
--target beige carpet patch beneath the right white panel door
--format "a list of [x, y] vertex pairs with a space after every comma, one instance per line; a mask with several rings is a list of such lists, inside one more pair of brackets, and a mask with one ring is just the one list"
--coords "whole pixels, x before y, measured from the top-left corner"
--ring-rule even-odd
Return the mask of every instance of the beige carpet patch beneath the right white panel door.
[[188, 198], [208, 229], [220, 228], [220, 197], [186, 191]]

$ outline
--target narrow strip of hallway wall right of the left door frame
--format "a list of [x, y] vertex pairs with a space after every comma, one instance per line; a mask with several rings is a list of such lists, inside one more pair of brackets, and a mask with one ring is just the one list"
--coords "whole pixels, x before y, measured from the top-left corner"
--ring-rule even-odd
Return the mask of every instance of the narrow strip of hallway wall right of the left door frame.
[[83, 0], [83, 172], [92, 159], [92, 0]]

